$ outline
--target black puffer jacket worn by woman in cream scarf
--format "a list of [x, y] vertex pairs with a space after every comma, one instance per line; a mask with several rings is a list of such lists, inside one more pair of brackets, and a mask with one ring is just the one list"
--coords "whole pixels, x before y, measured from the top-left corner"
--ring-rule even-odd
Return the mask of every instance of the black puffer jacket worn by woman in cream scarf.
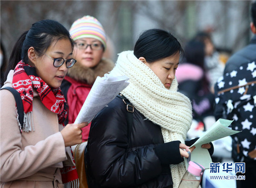
[[128, 147], [127, 113], [115, 97], [92, 121], [86, 152], [90, 188], [172, 188], [169, 164], [183, 161], [180, 142], [164, 143], [161, 127], [135, 109]]

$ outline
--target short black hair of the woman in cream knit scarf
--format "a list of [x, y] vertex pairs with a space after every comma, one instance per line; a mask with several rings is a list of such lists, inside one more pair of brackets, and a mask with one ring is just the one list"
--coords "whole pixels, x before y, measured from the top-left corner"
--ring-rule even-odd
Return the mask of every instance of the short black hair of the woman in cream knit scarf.
[[134, 55], [143, 57], [148, 63], [168, 58], [183, 49], [179, 41], [170, 33], [161, 29], [149, 29], [141, 33], [135, 43]]

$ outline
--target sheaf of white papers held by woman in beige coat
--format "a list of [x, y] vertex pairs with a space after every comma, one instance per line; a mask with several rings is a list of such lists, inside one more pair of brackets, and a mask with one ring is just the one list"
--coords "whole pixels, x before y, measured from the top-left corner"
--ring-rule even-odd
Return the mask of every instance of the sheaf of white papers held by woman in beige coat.
[[97, 77], [74, 123], [90, 123], [118, 93], [128, 86], [127, 76], [112, 76], [105, 74]]

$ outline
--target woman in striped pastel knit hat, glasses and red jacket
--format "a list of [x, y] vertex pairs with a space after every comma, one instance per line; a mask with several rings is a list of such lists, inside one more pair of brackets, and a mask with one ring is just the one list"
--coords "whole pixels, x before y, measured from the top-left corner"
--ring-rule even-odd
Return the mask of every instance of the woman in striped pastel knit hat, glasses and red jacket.
[[[95, 79], [104, 76], [115, 65], [110, 59], [102, 58], [107, 39], [96, 18], [87, 15], [75, 20], [69, 32], [74, 40], [74, 57], [77, 62], [68, 70], [61, 84], [69, 108], [65, 124], [74, 123]], [[82, 129], [83, 141], [88, 140], [89, 130], [90, 123]]]

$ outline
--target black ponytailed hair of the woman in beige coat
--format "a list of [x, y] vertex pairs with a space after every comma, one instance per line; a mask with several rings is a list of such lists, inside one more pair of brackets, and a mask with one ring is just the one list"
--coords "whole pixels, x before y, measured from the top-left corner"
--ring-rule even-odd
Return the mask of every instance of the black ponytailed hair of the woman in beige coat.
[[8, 72], [13, 70], [20, 60], [26, 64], [30, 63], [27, 56], [27, 51], [30, 47], [34, 47], [35, 52], [40, 57], [47, 51], [52, 42], [62, 38], [69, 39], [73, 50], [73, 40], [67, 29], [59, 22], [51, 19], [43, 19], [32, 24], [28, 31], [21, 34], [13, 47], [5, 73], [5, 79], [7, 78]]

